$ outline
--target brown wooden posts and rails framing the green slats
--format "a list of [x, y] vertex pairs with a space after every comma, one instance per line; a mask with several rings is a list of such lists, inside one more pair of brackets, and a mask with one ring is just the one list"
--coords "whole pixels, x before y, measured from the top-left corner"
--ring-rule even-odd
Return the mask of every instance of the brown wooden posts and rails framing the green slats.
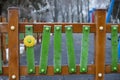
[[[112, 73], [111, 66], [105, 66], [105, 45], [106, 45], [106, 33], [111, 32], [111, 25], [105, 23], [105, 10], [97, 10], [96, 11], [96, 22], [87, 24], [87, 23], [34, 23], [34, 22], [18, 22], [18, 9], [12, 8], [9, 9], [9, 21], [0, 22], [0, 32], [9, 34], [9, 65], [8, 67], [3, 67], [3, 75], [9, 76], [9, 80], [12, 80], [12, 76], [19, 80], [19, 76], [27, 76], [27, 67], [19, 65], [19, 40], [18, 33], [25, 32], [25, 25], [33, 25], [33, 32], [42, 33], [44, 25], [51, 26], [51, 32], [54, 32], [54, 25], [62, 25], [62, 32], [65, 33], [65, 26], [72, 25], [73, 33], [82, 33], [82, 26], [88, 25], [90, 26], [90, 32], [94, 33], [95, 38], [95, 64], [88, 65], [88, 72], [86, 74], [95, 74], [95, 80], [104, 80], [104, 74]], [[2, 21], [2, 19], [0, 20]], [[120, 32], [120, 24], [118, 25], [118, 32]], [[11, 26], [15, 26], [15, 30], [11, 30]], [[18, 30], [19, 26], [19, 30]], [[2, 43], [4, 44], [4, 43]], [[19, 68], [20, 67], [20, 68]], [[39, 76], [39, 66], [36, 66], [36, 73], [33, 74], [35, 76]], [[46, 75], [55, 75], [54, 67], [47, 66]], [[60, 75], [69, 75], [68, 66], [62, 66], [62, 71]], [[74, 74], [82, 74], [79, 72], [80, 66], [77, 65], [76, 73]], [[118, 65], [118, 71], [116, 73], [120, 73], [120, 64]]]

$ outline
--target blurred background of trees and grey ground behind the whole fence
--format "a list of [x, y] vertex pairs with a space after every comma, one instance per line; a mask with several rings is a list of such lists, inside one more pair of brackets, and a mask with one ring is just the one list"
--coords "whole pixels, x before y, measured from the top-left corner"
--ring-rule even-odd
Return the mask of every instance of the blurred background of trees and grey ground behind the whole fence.
[[[8, 18], [8, 7], [19, 7], [20, 22], [72, 22], [93, 23], [95, 9], [106, 9], [107, 23], [120, 23], [120, 0], [0, 0], [0, 17]], [[110, 34], [107, 34], [107, 37]], [[23, 39], [24, 34], [21, 36]], [[53, 65], [53, 37], [49, 51], [48, 65]], [[62, 65], [67, 64], [65, 34], [62, 34]], [[76, 63], [80, 63], [81, 34], [74, 34]], [[111, 41], [106, 37], [106, 63], [111, 64]], [[6, 41], [7, 43], [8, 41]], [[8, 43], [7, 43], [8, 44]], [[94, 34], [90, 34], [89, 64], [94, 64]], [[41, 41], [35, 46], [35, 64], [39, 65]], [[25, 47], [20, 44], [20, 65], [27, 65]], [[6, 49], [8, 55], [8, 49]], [[21, 76], [20, 80], [93, 80], [94, 75], [55, 75], [55, 76]], [[0, 76], [0, 80], [8, 80]], [[120, 80], [120, 74], [105, 74], [105, 80]]]

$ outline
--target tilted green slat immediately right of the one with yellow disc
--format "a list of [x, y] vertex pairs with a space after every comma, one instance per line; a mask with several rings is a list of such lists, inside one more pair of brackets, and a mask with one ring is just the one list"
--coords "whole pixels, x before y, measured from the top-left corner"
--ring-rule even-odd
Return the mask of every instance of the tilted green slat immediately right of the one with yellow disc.
[[41, 74], [46, 74], [46, 70], [47, 70], [48, 52], [49, 52], [49, 44], [50, 44], [50, 30], [51, 27], [47, 25], [45, 25], [43, 28], [41, 56], [40, 56], [40, 65], [39, 65], [39, 73]]

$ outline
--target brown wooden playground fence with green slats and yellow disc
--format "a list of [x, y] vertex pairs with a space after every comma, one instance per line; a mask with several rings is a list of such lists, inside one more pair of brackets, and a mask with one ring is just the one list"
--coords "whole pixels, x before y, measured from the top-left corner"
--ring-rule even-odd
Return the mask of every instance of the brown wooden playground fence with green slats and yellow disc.
[[[0, 24], [0, 32], [8, 33], [9, 64], [2, 66], [2, 56], [0, 55], [0, 74], [9, 76], [9, 80], [19, 80], [20, 76], [40, 76], [40, 75], [72, 75], [72, 74], [94, 74], [95, 80], [104, 80], [104, 75], [109, 73], [119, 73], [118, 64], [118, 32], [120, 25], [106, 24], [106, 11], [98, 9], [95, 11], [95, 23], [24, 23], [19, 22], [18, 8], [9, 8], [8, 22]], [[33, 33], [43, 33], [40, 64], [34, 63], [35, 39]], [[112, 36], [112, 63], [105, 64], [106, 54], [106, 33]], [[19, 33], [25, 33], [25, 45], [27, 66], [19, 64]], [[54, 66], [48, 66], [48, 47], [50, 44], [50, 33], [54, 33]], [[61, 34], [66, 34], [68, 65], [61, 65]], [[82, 33], [82, 45], [80, 64], [75, 63], [73, 33]], [[89, 34], [94, 33], [95, 55], [94, 64], [88, 65]], [[2, 50], [2, 49], [1, 49]], [[3, 55], [3, 53], [1, 53]]]

